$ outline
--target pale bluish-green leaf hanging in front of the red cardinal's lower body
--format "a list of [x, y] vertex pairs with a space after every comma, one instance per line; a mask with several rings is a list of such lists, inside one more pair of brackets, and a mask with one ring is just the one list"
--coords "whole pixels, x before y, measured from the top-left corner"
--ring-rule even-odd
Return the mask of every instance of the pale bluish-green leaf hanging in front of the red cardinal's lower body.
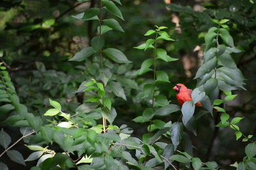
[[189, 120], [193, 117], [195, 112], [195, 103], [193, 101], [186, 101], [181, 108], [182, 111], [182, 122], [186, 125]]

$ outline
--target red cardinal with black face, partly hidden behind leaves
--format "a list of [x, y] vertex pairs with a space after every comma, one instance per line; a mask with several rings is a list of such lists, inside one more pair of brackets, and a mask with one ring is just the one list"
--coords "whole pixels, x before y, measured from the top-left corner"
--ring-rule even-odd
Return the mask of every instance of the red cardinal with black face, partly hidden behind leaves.
[[[175, 87], [173, 87], [173, 89], [176, 90], [176, 97], [181, 106], [186, 101], [191, 101], [191, 99], [192, 99], [191, 93], [193, 90], [188, 89], [184, 84], [180, 84], [180, 83], [175, 85]], [[195, 105], [202, 106], [202, 104], [199, 101]]]

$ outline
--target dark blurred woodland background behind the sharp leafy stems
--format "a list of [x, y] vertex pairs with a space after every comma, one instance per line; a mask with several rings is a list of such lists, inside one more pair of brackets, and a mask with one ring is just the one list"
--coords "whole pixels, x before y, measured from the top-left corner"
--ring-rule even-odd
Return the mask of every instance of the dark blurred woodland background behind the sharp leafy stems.
[[[227, 111], [231, 117], [244, 117], [239, 124], [244, 134], [256, 134], [255, 3], [253, 0], [123, 0], [120, 10], [125, 21], [118, 22], [125, 33], [106, 33], [106, 47], [115, 47], [124, 52], [133, 62], [127, 67], [134, 71], [140, 68], [143, 60], [152, 57], [150, 50], [144, 52], [133, 48], [145, 42], [147, 38], [143, 34], [148, 29], [154, 29], [154, 25], [168, 27], [169, 34], [177, 41], [159, 41], [158, 46], [179, 60], [157, 63], [157, 69], [166, 71], [171, 81], [160, 84], [159, 91], [176, 104], [175, 92], [172, 90], [176, 83], [184, 83], [190, 89], [196, 87], [193, 77], [203, 60], [204, 35], [214, 26], [211, 19], [229, 19], [227, 24], [235, 46], [243, 51], [232, 57], [247, 79], [247, 90], [234, 92], [239, 96], [227, 103]], [[90, 63], [87, 60], [70, 62], [68, 59], [83, 47], [90, 46], [99, 23], [76, 20], [71, 15], [77, 15], [92, 6], [99, 6], [99, 1], [0, 2], [0, 62], [10, 73], [20, 103], [25, 104], [31, 113], [44, 114], [49, 98], [60, 101], [63, 108], [70, 112], [83, 103], [81, 94], [76, 94], [76, 90], [86, 80], [86, 72], [93, 74], [93, 68], [88, 67]], [[125, 68], [119, 71], [125, 73]], [[134, 79], [140, 85], [152, 80], [152, 74]], [[127, 102], [120, 99], [115, 103], [118, 116], [114, 124], [128, 124], [135, 129], [134, 136], [142, 136], [147, 124], [132, 121], [146, 107], [136, 102], [139, 101], [137, 94], [138, 90], [132, 90], [126, 94]], [[177, 121], [177, 118], [179, 114], [175, 113], [172, 118], [164, 118], [164, 121]], [[212, 118], [207, 114], [198, 120], [197, 136], [189, 132], [196, 148], [194, 155], [202, 160], [215, 160], [221, 168], [230, 169], [229, 164], [243, 159], [246, 144], [236, 141], [232, 129], [215, 128], [217, 123], [216, 115]], [[15, 129], [9, 132], [12, 131], [15, 136]], [[24, 152], [28, 152], [28, 149]]]

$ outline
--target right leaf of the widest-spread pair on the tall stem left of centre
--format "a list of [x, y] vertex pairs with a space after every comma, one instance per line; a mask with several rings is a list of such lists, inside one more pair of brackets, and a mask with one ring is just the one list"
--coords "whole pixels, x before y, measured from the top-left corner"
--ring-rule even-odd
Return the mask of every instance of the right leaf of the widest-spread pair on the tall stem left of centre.
[[131, 63], [124, 53], [122, 53], [120, 50], [116, 50], [115, 48], [107, 48], [103, 51], [103, 53], [108, 56], [111, 60], [114, 60], [118, 63]]

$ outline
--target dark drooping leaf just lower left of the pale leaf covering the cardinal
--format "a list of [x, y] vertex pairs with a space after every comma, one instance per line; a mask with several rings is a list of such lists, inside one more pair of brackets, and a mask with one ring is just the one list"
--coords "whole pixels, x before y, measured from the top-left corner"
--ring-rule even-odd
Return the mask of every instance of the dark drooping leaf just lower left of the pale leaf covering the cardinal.
[[172, 124], [171, 139], [172, 139], [172, 144], [174, 146], [174, 150], [176, 150], [177, 146], [179, 146], [180, 141], [182, 139], [182, 134], [183, 134], [182, 123], [175, 122], [174, 124]]

